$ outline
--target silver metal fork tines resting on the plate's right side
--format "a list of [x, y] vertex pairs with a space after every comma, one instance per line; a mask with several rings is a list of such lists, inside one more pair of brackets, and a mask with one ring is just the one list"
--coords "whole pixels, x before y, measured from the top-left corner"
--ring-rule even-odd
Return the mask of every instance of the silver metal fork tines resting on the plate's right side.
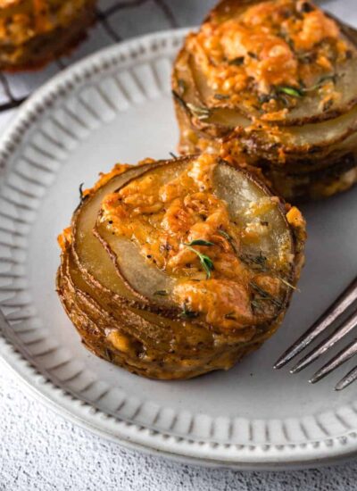
[[[290, 362], [295, 356], [303, 351], [311, 342], [320, 336], [328, 329], [331, 324], [337, 320], [353, 303], [357, 300], [357, 278], [353, 279], [353, 282], [345, 289], [345, 291], [336, 299], [334, 304], [328, 307], [328, 310], [324, 312], [316, 322], [314, 322], [311, 328], [299, 337], [295, 341], [294, 345], [290, 346], [284, 354], [280, 356], [275, 363], [275, 369], [281, 369]], [[317, 360], [322, 354], [325, 354], [333, 345], [336, 345], [347, 333], [352, 331], [357, 326], [357, 309], [346, 319], [336, 330], [330, 334], [327, 339], [320, 342], [310, 353], [303, 356], [303, 358], [295, 364], [290, 370], [290, 373], [297, 373], [312, 362]], [[347, 362], [354, 354], [357, 354], [357, 340], [347, 345], [336, 356], [331, 358], [323, 367], [320, 368], [309, 380], [311, 384], [315, 384], [320, 379], [323, 379], [335, 370], [342, 363]], [[352, 384], [357, 379], [357, 366], [353, 370], [349, 371], [343, 379], [337, 384], [336, 390], [343, 390], [345, 387]]]

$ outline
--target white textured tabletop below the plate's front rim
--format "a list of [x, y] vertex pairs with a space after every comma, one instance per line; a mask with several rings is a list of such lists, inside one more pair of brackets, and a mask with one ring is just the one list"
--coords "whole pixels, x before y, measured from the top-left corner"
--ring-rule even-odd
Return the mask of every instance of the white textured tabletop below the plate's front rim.
[[0, 365], [1, 491], [349, 491], [357, 462], [320, 470], [203, 469], [129, 452], [73, 426]]

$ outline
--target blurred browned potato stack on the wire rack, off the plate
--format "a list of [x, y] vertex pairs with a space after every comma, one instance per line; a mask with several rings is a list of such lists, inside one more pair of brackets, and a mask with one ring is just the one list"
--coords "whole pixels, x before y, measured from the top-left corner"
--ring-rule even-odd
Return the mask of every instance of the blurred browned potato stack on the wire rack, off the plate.
[[41, 67], [66, 53], [94, 12], [95, 0], [0, 0], [0, 70]]

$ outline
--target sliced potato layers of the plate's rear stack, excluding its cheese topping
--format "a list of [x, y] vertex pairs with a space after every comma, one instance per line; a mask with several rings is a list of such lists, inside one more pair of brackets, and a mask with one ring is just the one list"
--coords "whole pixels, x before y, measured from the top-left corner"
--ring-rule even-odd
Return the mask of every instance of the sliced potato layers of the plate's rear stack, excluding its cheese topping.
[[[279, 0], [247, 0], [244, 3], [232, 0], [221, 1], [212, 9], [200, 31], [210, 33], [206, 35], [205, 42], [207, 46], [213, 46], [212, 52], [210, 52], [211, 48], [207, 48], [204, 56], [211, 55], [212, 66], [220, 67], [217, 58], [220, 40], [215, 34], [216, 31], [219, 32], [220, 26], [226, 26], [224, 22], [228, 22], [227, 29], [230, 29], [229, 22], [244, 18], [251, 7], [255, 9], [254, 12], [260, 12], [259, 9], [263, 12], [268, 5], [268, 10], [271, 8], [271, 12], [274, 13], [273, 9], [281, 8], [282, 4]], [[292, 2], [291, 5], [293, 4]], [[288, 2], [284, 5], [286, 5], [284, 8], [290, 8]], [[303, 2], [298, 2], [296, 5], [298, 5], [296, 8], [305, 8]], [[308, 8], [309, 11], [306, 12], [313, 9], [315, 12], [320, 12], [310, 4]], [[273, 16], [271, 12], [269, 19]], [[258, 13], [254, 15], [256, 15], [254, 21], [258, 22]], [[302, 11], [297, 17], [304, 19], [303, 16]], [[280, 97], [278, 91], [281, 90], [283, 93], [286, 90], [283, 94], [287, 99], [286, 108], [281, 109], [280, 101], [277, 102], [276, 111], [268, 110], [265, 106], [262, 109], [265, 104], [263, 101], [266, 100], [264, 93], [259, 96], [262, 96], [262, 102], [253, 104], [251, 97], [252, 95], [255, 97], [258, 90], [254, 86], [250, 91], [242, 90], [240, 93], [243, 96], [240, 98], [239, 96], [237, 98], [233, 89], [230, 92], [229, 89], [220, 92], [219, 82], [216, 82], [217, 87], [212, 86], [212, 82], [209, 83], [207, 78], [208, 65], [205, 64], [202, 51], [205, 49], [204, 45], [199, 45], [201, 47], [197, 48], [195, 44], [195, 39], [200, 34], [188, 35], [174, 64], [172, 74], [174, 104], [180, 130], [179, 151], [182, 154], [192, 154], [206, 149], [218, 151], [222, 143], [226, 146], [227, 141], [229, 142], [227, 147], [231, 150], [231, 141], [237, 140], [233, 158], [242, 160], [244, 154], [246, 161], [260, 167], [271, 186], [276, 187], [278, 193], [289, 200], [301, 196], [329, 196], [331, 189], [334, 188], [339, 192], [347, 187], [347, 182], [351, 187], [355, 179], [345, 179], [345, 160], [351, 159], [351, 156], [355, 159], [357, 153], [357, 86], [354, 83], [357, 75], [357, 31], [340, 21], [336, 21], [336, 26], [340, 31], [338, 42], [345, 43], [344, 49], [348, 55], [346, 54], [345, 59], [339, 61], [337, 57], [336, 62], [322, 71], [322, 76], [317, 71], [317, 78], [311, 79], [308, 86], [302, 86], [303, 88], [272, 86], [272, 90], [276, 91], [274, 97], [277, 101]], [[269, 29], [266, 28], [267, 34], [262, 37], [270, 36]], [[332, 26], [331, 29], [335, 28]], [[224, 36], [225, 30], [222, 32], [223, 34], [220, 35]], [[252, 31], [252, 37], [254, 35]], [[234, 39], [233, 35], [232, 39]], [[235, 41], [238, 46], [235, 49], [241, 49], [239, 39], [240, 37], [237, 37]], [[234, 42], [231, 43], [231, 46], [234, 46]], [[251, 57], [255, 56], [254, 53], [248, 52], [248, 54]], [[305, 54], [309, 53], [296, 52], [295, 55], [299, 60], [298, 57]], [[240, 59], [245, 60], [245, 56], [241, 56]], [[227, 60], [224, 62], [227, 65]], [[336, 172], [338, 162], [341, 162], [340, 172]], [[357, 168], [357, 162], [354, 162], [353, 167]], [[317, 193], [316, 187], [311, 182], [316, 181], [316, 172], [319, 170], [321, 170], [322, 185]], [[288, 176], [286, 188], [283, 179], [280, 179], [284, 172]], [[307, 176], [309, 172], [314, 173], [311, 179]], [[303, 176], [299, 177], [299, 182], [296, 180], [294, 183], [294, 176], [300, 173], [303, 173]], [[336, 176], [338, 179], [336, 186], [331, 186], [329, 178], [325, 179], [327, 174]], [[351, 175], [350, 172], [350, 178]], [[344, 185], [341, 185], [342, 182]]]

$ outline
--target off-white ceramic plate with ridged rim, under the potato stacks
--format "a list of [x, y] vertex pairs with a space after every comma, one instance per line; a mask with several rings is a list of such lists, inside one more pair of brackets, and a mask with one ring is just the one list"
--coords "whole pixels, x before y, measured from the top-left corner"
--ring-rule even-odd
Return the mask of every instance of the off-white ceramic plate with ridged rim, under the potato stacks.
[[[170, 69], [183, 31], [112, 46], [21, 107], [0, 144], [0, 354], [48, 404], [123, 445], [245, 469], [316, 465], [357, 450], [353, 365], [311, 387], [272, 364], [357, 271], [357, 189], [305, 207], [307, 264], [284, 325], [228, 372], [185, 382], [138, 378], [89, 354], [54, 292], [56, 236], [117, 161], [168, 157], [178, 130]], [[353, 363], [353, 362], [352, 362]]]

